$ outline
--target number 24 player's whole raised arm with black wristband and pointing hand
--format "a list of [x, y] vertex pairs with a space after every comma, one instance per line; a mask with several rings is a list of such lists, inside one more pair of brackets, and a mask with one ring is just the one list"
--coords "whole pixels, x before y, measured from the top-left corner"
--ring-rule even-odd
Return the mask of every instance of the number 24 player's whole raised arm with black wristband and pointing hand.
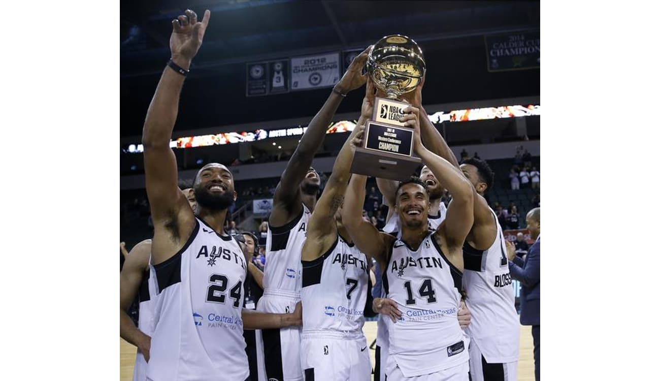
[[[185, 16], [172, 20], [170, 50], [175, 65], [184, 70], [190, 67], [201, 46], [209, 17], [211, 12], [205, 11], [203, 20], [197, 22], [197, 15], [187, 10]], [[160, 263], [176, 252], [170, 253], [172, 250], [160, 244], [164, 242], [166, 226], [175, 226], [177, 231], [172, 231], [170, 237], [178, 238], [179, 246], [183, 246], [185, 238], [194, 228], [194, 216], [178, 187], [176, 157], [170, 149], [183, 79], [185, 77], [172, 67], [165, 68], [149, 105], [142, 135], [145, 182], [154, 222], [154, 263]]]

